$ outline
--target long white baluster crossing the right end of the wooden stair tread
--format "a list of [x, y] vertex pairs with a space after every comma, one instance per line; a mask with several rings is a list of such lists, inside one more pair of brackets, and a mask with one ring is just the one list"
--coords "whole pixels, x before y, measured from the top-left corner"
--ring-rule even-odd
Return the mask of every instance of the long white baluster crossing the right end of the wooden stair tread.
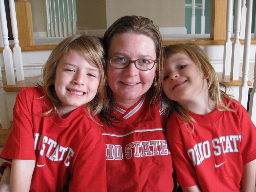
[[248, 71], [249, 71], [249, 59], [250, 59], [250, 47], [251, 47], [251, 30], [252, 30], [252, 0], [247, 0], [247, 13], [245, 24], [245, 39], [244, 39], [244, 58], [243, 58], [243, 76], [242, 84], [239, 87], [239, 102], [247, 108], [248, 102]]

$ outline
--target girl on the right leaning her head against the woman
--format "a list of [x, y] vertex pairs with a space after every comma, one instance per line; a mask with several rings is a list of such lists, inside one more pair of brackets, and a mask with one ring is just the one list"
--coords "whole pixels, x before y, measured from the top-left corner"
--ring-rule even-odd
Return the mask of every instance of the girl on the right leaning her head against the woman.
[[163, 89], [173, 109], [166, 137], [183, 191], [254, 191], [256, 128], [200, 47], [165, 47]]

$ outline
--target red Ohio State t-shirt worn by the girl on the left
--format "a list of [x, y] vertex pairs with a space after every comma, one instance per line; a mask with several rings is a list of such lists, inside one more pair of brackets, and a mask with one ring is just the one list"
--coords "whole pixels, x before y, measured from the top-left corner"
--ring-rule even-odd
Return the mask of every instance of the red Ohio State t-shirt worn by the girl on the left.
[[[51, 103], [43, 88], [22, 89], [13, 127], [0, 157], [35, 159], [30, 191], [106, 191], [105, 143], [100, 127], [75, 109], [67, 118], [42, 116]], [[40, 98], [40, 99], [38, 99]]]

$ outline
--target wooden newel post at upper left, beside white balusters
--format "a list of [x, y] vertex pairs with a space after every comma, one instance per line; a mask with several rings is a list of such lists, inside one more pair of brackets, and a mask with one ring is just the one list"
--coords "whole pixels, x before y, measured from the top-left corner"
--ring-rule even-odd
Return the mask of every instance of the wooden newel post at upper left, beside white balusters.
[[15, 2], [20, 46], [35, 45], [31, 4], [27, 0]]

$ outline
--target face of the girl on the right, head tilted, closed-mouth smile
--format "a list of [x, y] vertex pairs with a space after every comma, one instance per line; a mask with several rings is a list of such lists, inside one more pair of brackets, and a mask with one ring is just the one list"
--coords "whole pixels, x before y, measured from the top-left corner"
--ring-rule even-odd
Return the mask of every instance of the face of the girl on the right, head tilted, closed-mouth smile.
[[202, 72], [186, 54], [175, 53], [164, 63], [163, 89], [168, 98], [178, 103], [200, 100], [207, 90]]

